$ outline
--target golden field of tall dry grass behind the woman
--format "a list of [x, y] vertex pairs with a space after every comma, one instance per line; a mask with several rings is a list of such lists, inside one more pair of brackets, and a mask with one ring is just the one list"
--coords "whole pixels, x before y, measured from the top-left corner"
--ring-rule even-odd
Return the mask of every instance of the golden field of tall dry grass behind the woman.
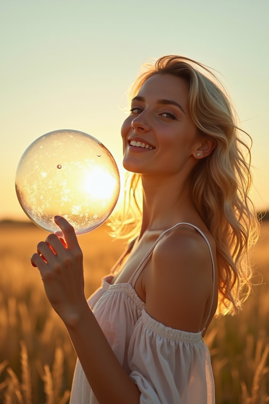
[[[79, 237], [86, 296], [100, 286], [124, 249], [102, 226]], [[30, 264], [47, 233], [32, 224], [0, 224], [0, 403], [69, 402], [76, 355]], [[258, 286], [236, 317], [213, 320], [205, 337], [217, 404], [269, 402], [269, 222], [254, 250]]]

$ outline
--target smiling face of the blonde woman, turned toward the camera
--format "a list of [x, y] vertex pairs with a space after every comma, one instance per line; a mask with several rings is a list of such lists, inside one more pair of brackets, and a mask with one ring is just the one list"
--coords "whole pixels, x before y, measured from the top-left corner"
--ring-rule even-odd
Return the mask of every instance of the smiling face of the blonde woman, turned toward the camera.
[[199, 137], [190, 117], [188, 84], [169, 74], [146, 80], [121, 128], [123, 166], [140, 174], [178, 173], [195, 163]]

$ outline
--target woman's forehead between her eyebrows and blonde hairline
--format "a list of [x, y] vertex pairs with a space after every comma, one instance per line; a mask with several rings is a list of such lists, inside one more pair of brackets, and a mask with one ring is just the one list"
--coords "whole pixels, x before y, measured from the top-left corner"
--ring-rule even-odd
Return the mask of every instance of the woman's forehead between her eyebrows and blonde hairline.
[[140, 97], [168, 99], [188, 104], [188, 84], [180, 77], [170, 74], [154, 74], [148, 78], [138, 91]]

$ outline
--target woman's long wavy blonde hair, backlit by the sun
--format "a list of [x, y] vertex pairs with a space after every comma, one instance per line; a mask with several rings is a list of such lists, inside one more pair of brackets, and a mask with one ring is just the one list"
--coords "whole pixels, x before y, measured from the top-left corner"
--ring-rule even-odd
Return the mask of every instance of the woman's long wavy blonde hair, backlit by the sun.
[[[190, 114], [203, 137], [213, 138], [215, 149], [200, 160], [192, 172], [194, 204], [216, 243], [219, 303], [216, 315], [235, 314], [251, 291], [250, 248], [259, 236], [259, 222], [248, 196], [250, 136], [238, 127], [238, 118], [220, 80], [209, 68], [182, 56], [164, 56], [155, 65], [144, 65], [131, 88], [131, 98], [154, 74], [171, 74], [188, 83]], [[250, 146], [240, 138], [246, 135]], [[115, 234], [139, 233], [141, 208], [139, 174], [125, 183], [125, 204]], [[115, 230], [115, 223], [110, 223]], [[132, 228], [130, 229], [130, 225]]]

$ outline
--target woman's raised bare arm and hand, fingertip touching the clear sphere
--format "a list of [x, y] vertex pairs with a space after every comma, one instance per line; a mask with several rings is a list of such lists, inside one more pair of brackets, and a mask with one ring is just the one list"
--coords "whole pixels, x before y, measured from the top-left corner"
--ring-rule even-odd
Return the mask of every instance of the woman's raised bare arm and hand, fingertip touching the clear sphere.
[[138, 404], [140, 391], [119, 364], [85, 298], [82, 252], [75, 231], [63, 217], [55, 222], [66, 244], [50, 234], [38, 244], [31, 263], [40, 270], [46, 295], [67, 327], [98, 402]]

